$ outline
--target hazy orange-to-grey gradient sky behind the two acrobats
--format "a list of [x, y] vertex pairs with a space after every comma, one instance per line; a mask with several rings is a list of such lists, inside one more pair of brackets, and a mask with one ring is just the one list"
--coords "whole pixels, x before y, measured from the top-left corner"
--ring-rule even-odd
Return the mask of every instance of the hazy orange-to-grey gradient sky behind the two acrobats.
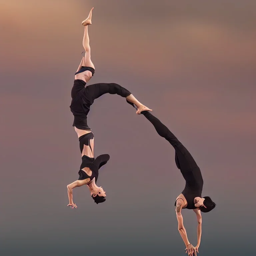
[[[174, 149], [117, 95], [88, 116], [95, 155], [108, 153], [96, 205], [78, 178], [69, 105], [89, 27], [91, 83], [130, 90], [186, 146], [217, 207], [199, 255], [248, 255], [255, 238], [256, 3], [0, 0], [0, 254], [185, 255], [174, 202], [185, 182]], [[152, 178], [159, 180], [152, 183]], [[196, 218], [184, 210], [196, 245]]]

